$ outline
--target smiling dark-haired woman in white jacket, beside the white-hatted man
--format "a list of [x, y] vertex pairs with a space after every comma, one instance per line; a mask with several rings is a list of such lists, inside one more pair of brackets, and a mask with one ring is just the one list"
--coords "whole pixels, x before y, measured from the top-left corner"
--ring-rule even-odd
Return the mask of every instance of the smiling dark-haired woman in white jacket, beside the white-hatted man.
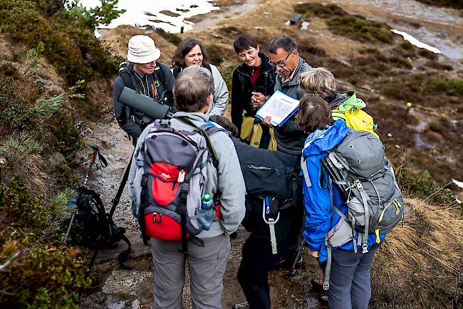
[[209, 64], [206, 50], [201, 41], [196, 38], [185, 38], [180, 42], [172, 57], [172, 66], [172, 73], [175, 78], [183, 68], [189, 66], [207, 68], [212, 73], [212, 78], [214, 78], [214, 99], [209, 106], [207, 115], [224, 115], [229, 100], [227, 84], [217, 67]]

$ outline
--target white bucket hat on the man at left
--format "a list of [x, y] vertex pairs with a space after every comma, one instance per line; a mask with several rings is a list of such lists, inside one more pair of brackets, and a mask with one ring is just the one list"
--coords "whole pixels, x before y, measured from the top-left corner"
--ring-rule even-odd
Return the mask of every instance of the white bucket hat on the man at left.
[[149, 36], [132, 36], [129, 40], [127, 59], [132, 63], [150, 63], [161, 56], [156, 48], [155, 41]]

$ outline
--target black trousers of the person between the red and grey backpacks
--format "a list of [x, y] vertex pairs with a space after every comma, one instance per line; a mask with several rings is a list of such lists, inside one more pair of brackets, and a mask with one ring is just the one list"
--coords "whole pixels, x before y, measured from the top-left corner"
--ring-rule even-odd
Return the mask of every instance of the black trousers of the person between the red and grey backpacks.
[[[249, 197], [247, 198], [249, 199]], [[293, 206], [280, 212], [280, 219], [275, 224], [277, 254], [271, 252], [269, 225], [262, 219], [262, 201], [246, 200], [255, 207], [253, 229], [243, 245], [241, 264], [238, 270], [238, 281], [243, 289], [251, 309], [270, 308], [269, 269], [279, 261], [283, 254], [297, 254], [297, 248], [290, 250], [296, 243], [301, 231], [302, 208]], [[259, 207], [260, 204], [260, 207]], [[260, 213], [260, 216], [258, 215]], [[260, 219], [259, 219], [260, 218]], [[294, 261], [288, 258], [290, 261]]]

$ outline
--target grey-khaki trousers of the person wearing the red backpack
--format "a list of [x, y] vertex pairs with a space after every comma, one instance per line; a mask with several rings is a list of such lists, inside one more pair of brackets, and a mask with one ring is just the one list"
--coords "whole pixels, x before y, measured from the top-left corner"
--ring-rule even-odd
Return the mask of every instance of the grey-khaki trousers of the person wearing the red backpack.
[[155, 309], [182, 308], [185, 261], [188, 262], [193, 308], [222, 308], [222, 279], [230, 253], [230, 238], [222, 234], [202, 240], [204, 247], [188, 241], [188, 253], [184, 255], [181, 241], [151, 239]]

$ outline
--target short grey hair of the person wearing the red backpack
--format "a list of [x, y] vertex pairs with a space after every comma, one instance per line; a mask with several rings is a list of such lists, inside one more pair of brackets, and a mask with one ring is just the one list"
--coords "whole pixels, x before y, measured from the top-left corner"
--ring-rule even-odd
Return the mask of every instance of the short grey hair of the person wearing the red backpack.
[[174, 98], [177, 110], [199, 112], [207, 105], [207, 97], [214, 92], [214, 79], [207, 68], [189, 66], [177, 76]]

